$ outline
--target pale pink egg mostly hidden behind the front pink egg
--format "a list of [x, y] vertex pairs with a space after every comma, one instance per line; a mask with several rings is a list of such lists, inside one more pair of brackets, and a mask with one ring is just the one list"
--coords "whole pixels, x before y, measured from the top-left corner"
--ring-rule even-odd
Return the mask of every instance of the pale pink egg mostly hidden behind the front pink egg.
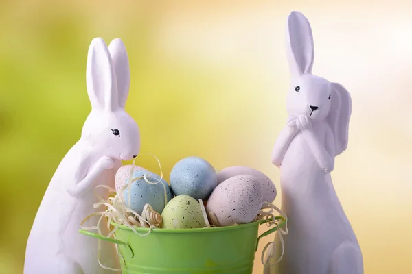
[[268, 203], [272, 203], [273, 200], [275, 200], [277, 191], [272, 180], [262, 172], [248, 166], [230, 166], [226, 169], [222, 169], [218, 172], [218, 184], [237, 175], [252, 175], [253, 177], [258, 178], [260, 185], [262, 186], [262, 202], [267, 201]]

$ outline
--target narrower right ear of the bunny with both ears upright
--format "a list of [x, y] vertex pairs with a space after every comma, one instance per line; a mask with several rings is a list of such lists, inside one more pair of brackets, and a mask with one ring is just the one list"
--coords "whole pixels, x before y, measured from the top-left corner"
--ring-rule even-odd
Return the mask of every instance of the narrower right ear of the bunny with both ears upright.
[[124, 108], [130, 87], [130, 66], [126, 47], [121, 39], [116, 38], [108, 45], [108, 51], [110, 51], [116, 73], [119, 107]]

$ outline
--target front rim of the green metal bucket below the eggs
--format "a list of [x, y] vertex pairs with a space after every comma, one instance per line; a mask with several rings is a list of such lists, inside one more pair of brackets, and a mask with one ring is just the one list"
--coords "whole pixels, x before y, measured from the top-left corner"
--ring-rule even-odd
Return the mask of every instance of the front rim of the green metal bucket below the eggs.
[[[222, 232], [222, 231], [230, 231], [234, 229], [244, 229], [248, 227], [259, 226], [262, 223], [265, 223], [264, 220], [253, 221], [251, 223], [243, 223], [240, 225], [229, 225], [227, 227], [200, 227], [200, 228], [153, 228], [150, 233], [165, 233], [165, 234], [187, 234], [187, 233], [203, 233], [203, 232]], [[119, 223], [111, 222], [111, 225], [117, 227], [117, 229], [127, 230], [129, 232], [133, 232], [132, 229], [127, 227], [126, 225], [122, 225]], [[133, 227], [137, 232], [147, 233], [149, 232], [148, 227]]]

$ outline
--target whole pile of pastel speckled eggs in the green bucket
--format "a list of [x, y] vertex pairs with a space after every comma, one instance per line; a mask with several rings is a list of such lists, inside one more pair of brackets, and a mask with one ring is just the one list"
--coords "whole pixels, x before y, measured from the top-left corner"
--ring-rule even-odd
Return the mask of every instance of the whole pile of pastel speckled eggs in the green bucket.
[[125, 188], [131, 169], [132, 165], [126, 165], [117, 171], [117, 192], [123, 191], [126, 206], [138, 214], [146, 203], [150, 204], [161, 214], [161, 228], [205, 227], [201, 201], [212, 225], [251, 223], [262, 203], [273, 202], [277, 194], [271, 179], [260, 171], [231, 166], [216, 172], [198, 157], [177, 162], [170, 173], [170, 184], [156, 173], [134, 166], [133, 178], [138, 179]]

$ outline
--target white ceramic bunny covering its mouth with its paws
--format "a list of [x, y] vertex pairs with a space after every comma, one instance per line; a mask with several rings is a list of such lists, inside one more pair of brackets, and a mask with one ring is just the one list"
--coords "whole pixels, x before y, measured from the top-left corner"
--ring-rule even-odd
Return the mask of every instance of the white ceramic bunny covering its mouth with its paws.
[[341, 84], [312, 75], [312, 29], [300, 12], [288, 16], [286, 48], [292, 74], [286, 106], [290, 116], [272, 163], [280, 168], [289, 230], [277, 273], [363, 273], [361, 248], [330, 177], [335, 156], [347, 148], [350, 94]]

